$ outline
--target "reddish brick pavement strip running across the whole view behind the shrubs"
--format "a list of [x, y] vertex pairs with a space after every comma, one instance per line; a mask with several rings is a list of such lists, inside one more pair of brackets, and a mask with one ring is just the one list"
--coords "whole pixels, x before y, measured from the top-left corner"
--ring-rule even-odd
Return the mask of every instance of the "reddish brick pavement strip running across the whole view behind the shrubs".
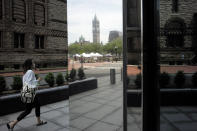
[[[118, 65], [122, 67], [122, 62], [119, 61], [117, 63], [112, 62], [97, 62], [97, 63], [83, 63], [83, 67], [85, 69], [92, 69], [96, 67], [113, 67], [114, 65]], [[78, 69], [81, 67], [81, 63], [79, 61], [70, 61], [68, 65], [68, 70], [71, 70], [72, 68]], [[36, 74], [46, 74], [48, 72], [65, 72], [67, 69], [50, 69], [50, 70], [36, 70]], [[167, 73], [176, 73], [177, 71], [184, 71], [184, 73], [194, 73], [197, 72], [197, 66], [187, 66], [187, 65], [162, 65], [160, 67], [161, 72], [167, 72]], [[140, 73], [141, 71], [138, 69], [138, 66], [136, 65], [128, 65], [127, 66], [127, 73], [128, 75], [136, 75]], [[22, 72], [13, 72], [13, 73], [0, 73], [2, 76], [15, 76], [15, 75], [23, 75]]]

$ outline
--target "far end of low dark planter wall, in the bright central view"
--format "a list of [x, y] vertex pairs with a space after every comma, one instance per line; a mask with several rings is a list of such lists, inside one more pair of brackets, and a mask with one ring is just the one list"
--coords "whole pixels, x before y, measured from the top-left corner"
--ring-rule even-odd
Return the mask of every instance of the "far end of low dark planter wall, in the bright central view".
[[85, 91], [93, 90], [98, 87], [96, 78], [88, 78], [69, 84], [69, 96], [79, 94]]

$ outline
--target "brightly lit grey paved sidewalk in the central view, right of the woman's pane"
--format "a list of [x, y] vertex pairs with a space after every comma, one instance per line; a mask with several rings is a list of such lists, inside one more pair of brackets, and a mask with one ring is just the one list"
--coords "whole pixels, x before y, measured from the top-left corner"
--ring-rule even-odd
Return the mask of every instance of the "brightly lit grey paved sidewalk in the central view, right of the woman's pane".
[[98, 89], [70, 97], [71, 131], [122, 131], [122, 87], [120, 75], [115, 85], [106, 76], [98, 79]]

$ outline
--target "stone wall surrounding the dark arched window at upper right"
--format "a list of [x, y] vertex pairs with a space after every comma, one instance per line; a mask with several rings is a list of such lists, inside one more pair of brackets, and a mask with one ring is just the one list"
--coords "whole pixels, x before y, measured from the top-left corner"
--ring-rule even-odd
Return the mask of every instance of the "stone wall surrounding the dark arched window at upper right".
[[[160, 0], [160, 61], [183, 61], [183, 63], [188, 64], [190, 59], [194, 56], [191, 51], [192, 47], [192, 35], [191, 33], [191, 23], [193, 20], [194, 13], [197, 13], [197, 1], [196, 0], [178, 0], [178, 12], [172, 12], [172, 0]], [[186, 24], [186, 34], [184, 36], [184, 46], [180, 49], [179, 47], [166, 46], [166, 36], [163, 34], [166, 22], [173, 18], [178, 17], [184, 20]], [[177, 53], [184, 54], [185, 58], [181, 60]], [[185, 62], [184, 62], [185, 61]], [[167, 62], [168, 63], [168, 62]]]

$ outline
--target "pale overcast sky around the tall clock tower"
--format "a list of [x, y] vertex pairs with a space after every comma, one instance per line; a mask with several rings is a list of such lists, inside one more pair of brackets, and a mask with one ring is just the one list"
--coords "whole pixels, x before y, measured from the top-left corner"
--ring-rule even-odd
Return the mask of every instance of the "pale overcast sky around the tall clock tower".
[[92, 19], [100, 21], [100, 39], [108, 41], [109, 31], [122, 32], [122, 0], [68, 0], [68, 43], [79, 40], [92, 42]]

